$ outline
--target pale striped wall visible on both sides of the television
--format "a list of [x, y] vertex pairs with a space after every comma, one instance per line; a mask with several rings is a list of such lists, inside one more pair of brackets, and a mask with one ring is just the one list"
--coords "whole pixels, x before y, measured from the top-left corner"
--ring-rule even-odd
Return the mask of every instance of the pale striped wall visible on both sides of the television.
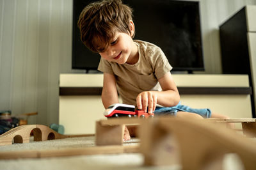
[[[200, 1], [204, 73], [221, 73], [218, 26], [246, 4], [256, 0]], [[59, 74], [82, 72], [71, 55], [72, 0], [0, 0], [0, 110], [58, 123]]]

